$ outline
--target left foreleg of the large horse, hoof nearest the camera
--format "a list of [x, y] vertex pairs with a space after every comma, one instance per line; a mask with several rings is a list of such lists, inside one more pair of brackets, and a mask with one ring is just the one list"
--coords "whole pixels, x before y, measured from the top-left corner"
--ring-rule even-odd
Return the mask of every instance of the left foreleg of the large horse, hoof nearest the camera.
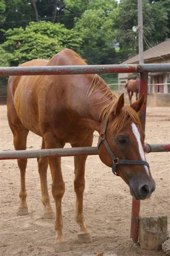
[[[62, 148], [64, 143], [57, 141], [54, 134], [48, 132], [44, 135], [45, 148]], [[56, 218], [55, 218], [55, 251], [65, 252], [69, 251], [69, 246], [65, 241], [63, 235], [63, 219], [62, 219], [62, 198], [65, 191], [65, 183], [63, 181], [61, 170], [61, 157], [48, 158], [50, 171], [52, 173], [52, 194], [56, 205]]]

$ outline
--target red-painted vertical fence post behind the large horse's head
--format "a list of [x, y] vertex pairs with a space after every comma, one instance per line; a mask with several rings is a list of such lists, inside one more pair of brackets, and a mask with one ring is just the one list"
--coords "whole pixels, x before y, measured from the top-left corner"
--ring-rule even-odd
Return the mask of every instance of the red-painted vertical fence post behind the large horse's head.
[[[139, 86], [139, 97], [145, 93], [145, 103], [141, 109], [140, 119], [142, 128], [145, 131], [146, 122], [146, 108], [147, 108], [147, 93], [148, 93], [148, 73], [140, 73], [140, 86]], [[131, 234], [130, 237], [134, 243], [138, 242], [139, 234], [139, 216], [140, 216], [140, 200], [132, 198], [132, 213], [131, 213]]]

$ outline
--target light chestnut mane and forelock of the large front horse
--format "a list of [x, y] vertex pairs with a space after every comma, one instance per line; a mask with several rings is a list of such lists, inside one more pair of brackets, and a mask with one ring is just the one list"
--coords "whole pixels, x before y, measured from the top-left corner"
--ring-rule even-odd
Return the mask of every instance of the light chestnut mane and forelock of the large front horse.
[[[102, 122], [113, 112], [113, 109], [117, 102], [117, 97], [111, 91], [111, 89], [109, 89], [108, 85], [101, 77], [99, 77], [98, 75], [94, 75], [94, 78], [92, 79], [91, 85], [87, 92], [87, 97], [89, 97], [91, 94], [99, 92], [101, 93], [99, 94], [98, 99], [101, 99], [101, 101], [96, 104], [104, 104], [104, 107], [101, 109], [98, 119], [98, 121]], [[124, 104], [123, 108], [120, 111], [120, 114], [114, 118], [114, 121], [111, 125], [111, 132], [118, 134], [130, 122], [134, 122], [141, 127], [139, 114], [131, 106]]]

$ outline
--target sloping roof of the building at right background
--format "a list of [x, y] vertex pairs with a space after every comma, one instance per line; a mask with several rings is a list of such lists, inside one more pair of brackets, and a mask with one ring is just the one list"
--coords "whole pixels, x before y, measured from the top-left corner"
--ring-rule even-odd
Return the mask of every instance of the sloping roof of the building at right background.
[[[170, 38], [143, 52], [145, 62], [149, 62], [150, 60], [154, 59], [163, 59], [168, 56], [170, 56]], [[122, 62], [122, 64], [132, 63], [139, 63], [139, 54]]]

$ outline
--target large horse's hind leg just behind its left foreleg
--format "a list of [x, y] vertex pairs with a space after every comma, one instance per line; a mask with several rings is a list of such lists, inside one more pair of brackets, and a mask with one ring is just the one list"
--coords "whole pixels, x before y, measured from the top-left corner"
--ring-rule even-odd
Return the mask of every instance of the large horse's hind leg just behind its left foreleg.
[[[44, 140], [42, 140], [41, 149], [44, 149], [44, 148], [45, 148]], [[50, 205], [48, 186], [47, 186], [48, 159], [37, 158], [37, 162], [38, 162], [38, 172], [39, 172], [40, 184], [41, 184], [41, 202], [44, 205], [43, 218], [54, 219], [55, 214], [53, 212], [52, 206]]]

